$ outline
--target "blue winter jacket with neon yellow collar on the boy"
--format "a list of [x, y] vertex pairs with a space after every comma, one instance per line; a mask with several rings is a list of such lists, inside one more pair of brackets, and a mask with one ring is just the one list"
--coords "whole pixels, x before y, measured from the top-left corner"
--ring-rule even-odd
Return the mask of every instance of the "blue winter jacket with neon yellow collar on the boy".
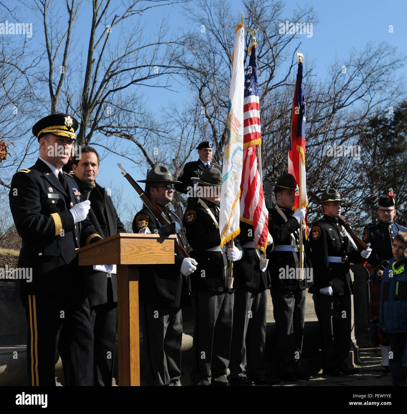
[[390, 259], [384, 271], [379, 327], [390, 334], [407, 332], [407, 258], [399, 263]]

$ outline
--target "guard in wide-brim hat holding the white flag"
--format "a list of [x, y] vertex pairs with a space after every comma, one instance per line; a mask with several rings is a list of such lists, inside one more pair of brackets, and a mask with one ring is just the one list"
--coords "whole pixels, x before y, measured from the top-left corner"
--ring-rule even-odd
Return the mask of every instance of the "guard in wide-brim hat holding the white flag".
[[234, 290], [228, 288], [227, 260], [242, 257], [238, 239], [235, 247], [220, 247], [219, 201], [222, 174], [208, 168], [199, 178], [200, 197], [187, 207], [183, 225], [190, 253], [197, 262], [191, 276], [195, 312], [192, 380], [194, 385], [230, 385], [226, 379], [232, 337]]

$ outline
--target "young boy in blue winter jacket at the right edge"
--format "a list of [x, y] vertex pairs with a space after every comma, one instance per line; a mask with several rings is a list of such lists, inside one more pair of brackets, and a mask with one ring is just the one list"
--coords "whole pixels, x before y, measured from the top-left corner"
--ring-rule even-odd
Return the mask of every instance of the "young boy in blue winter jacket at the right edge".
[[393, 256], [381, 281], [379, 328], [390, 338], [393, 385], [407, 385], [407, 232], [395, 236]]

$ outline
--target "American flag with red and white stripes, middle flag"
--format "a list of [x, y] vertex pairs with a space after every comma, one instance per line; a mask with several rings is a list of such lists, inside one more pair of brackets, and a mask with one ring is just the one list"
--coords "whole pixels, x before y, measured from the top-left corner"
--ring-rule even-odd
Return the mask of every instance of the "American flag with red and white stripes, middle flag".
[[243, 172], [240, 184], [240, 220], [252, 224], [254, 241], [258, 249], [267, 247], [269, 234], [268, 212], [264, 202], [263, 186], [258, 171], [256, 145], [262, 144], [260, 132], [260, 107], [257, 82], [256, 45], [252, 48], [248, 70], [245, 74], [243, 100]]

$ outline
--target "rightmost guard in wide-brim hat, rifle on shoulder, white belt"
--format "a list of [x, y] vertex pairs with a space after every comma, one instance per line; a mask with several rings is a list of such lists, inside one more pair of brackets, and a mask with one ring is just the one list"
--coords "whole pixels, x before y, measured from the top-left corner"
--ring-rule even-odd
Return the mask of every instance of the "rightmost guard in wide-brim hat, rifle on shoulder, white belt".
[[353, 294], [349, 262], [365, 261], [371, 248], [359, 253], [350, 236], [338, 223], [341, 199], [338, 191], [327, 188], [321, 196], [322, 219], [311, 229], [312, 265], [314, 270], [314, 304], [322, 339], [323, 373], [338, 376], [359, 370], [347, 366], [350, 350], [351, 301]]

